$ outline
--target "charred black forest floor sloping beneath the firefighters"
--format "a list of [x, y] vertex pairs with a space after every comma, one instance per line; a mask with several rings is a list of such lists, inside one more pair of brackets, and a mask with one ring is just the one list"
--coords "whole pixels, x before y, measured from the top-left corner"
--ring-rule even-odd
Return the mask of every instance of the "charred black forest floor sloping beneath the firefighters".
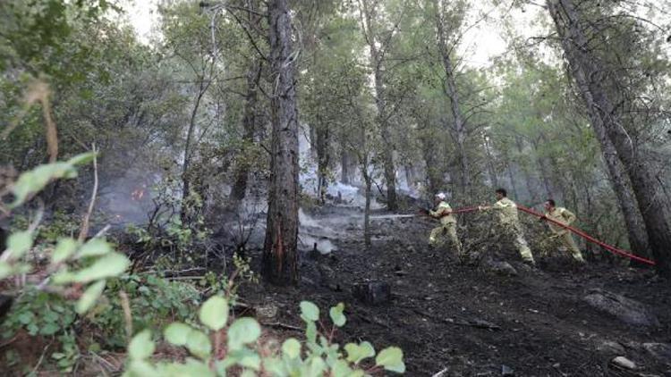
[[[311, 215], [319, 222], [343, 211]], [[460, 264], [449, 250], [430, 250], [432, 225], [417, 218], [376, 221], [371, 247], [356, 226], [344, 228], [350, 237], [336, 239], [338, 250], [303, 258], [298, 287], [243, 286], [241, 297], [251, 306], [276, 306], [268, 321], [279, 338], [300, 335], [291, 326], [302, 327], [301, 300], [322, 313], [344, 302], [348, 321], [336, 341], [399, 346], [411, 376], [671, 376], [664, 356], [643, 346], [671, 342], [671, 287], [651, 270], [594, 261], [577, 266], [560, 254], [537, 256], [539, 268], [532, 270], [504, 249], [497, 257], [517, 273], [500, 274]], [[352, 286], [366, 281], [388, 283], [388, 302], [354, 297]], [[589, 306], [583, 297], [593, 289], [641, 302], [659, 324], [630, 325]], [[612, 363], [616, 356], [635, 368]]]

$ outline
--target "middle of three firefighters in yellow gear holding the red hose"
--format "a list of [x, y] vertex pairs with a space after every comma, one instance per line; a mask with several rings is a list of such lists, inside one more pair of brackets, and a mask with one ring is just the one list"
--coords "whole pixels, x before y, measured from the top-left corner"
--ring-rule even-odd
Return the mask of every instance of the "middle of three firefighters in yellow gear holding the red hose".
[[497, 203], [494, 205], [479, 206], [478, 209], [480, 211], [493, 211], [497, 214], [499, 225], [497, 231], [502, 236], [513, 240], [514, 246], [517, 247], [525, 264], [535, 266], [536, 262], [533, 260], [533, 255], [527, 245], [526, 239], [524, 239], [520, 219], [517, 217], [517, 205], [507, 197], [505, 189], [497, 189], [495, 192]]

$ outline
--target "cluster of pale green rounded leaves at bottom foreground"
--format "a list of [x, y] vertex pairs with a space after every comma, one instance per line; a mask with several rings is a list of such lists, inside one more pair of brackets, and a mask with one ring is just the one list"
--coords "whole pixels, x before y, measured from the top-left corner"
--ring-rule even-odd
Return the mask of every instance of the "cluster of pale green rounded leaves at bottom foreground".
[[[186, 348], [191, 356], [184, 363], [160, 361], [153, 363], [149, 358], [156, 345], [149, 331], [137, 334], [129, 346], [129, 363], [125, 376], [179, 375], [225, 376], [233, 367], [242, 368], [242, 375], [268, 373], [273, 376], [364, 376], [386, 370], [404, 373], [403, 351], [390, 347], [379, 352], [374, 364], [361, 369], [361, 363], [375, 356], [375, 349], [369, 342], [344, 346], [345, 357], [338, 344], [332, 343], [330, 335], [316, 330], [319, 321], [319, 307], [309, 301], [301, 303], [301, 317], [306, 323], [304, 347], [298, 339], [286, 339], [279, 352], [268, 355], [259, 352], [261, 327], [253, 318], [238, 318], [227, 324], [228, 300], [224, 297], [210, 297], [200, 307], [200, 322], [205, 331], [185, 323], [171, 323], [164, 331], [164, 338], [176, 347]], [[338, 304], [329, 313], [335, 318], [334, 325], [344, 324], [344, 305]], [[338, 324], [340, 323], [340, 324]], [[221, 342], [221, 332], [225, 330], [226, 345]], [[208, 335], [209, 332], [209, 335]], [[319, 337], [319, 341], [317, 340]], [[214, 352], [213, 352], [214, 351]], [[224, 356], [222, 356], [224, 355]]]

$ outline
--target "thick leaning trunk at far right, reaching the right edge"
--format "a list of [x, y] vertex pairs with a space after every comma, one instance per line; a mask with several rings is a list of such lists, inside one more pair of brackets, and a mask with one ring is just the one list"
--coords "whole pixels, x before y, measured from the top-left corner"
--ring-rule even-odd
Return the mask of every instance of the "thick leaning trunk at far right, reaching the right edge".
[[[669, 257], [671, 226], [664, 210], [664, 203], [658, 196], [654, 172], [629, 138], [607, 90], [601, 84], [602, 71], [590, 53], [587, 37], [581, 29], [581, 14], [578, 13], [573, 1], [548, 0], [547, 4], [550, 15], [555, 21], [557, 33], [562, 38], [573, 79], [590, 113], [592, 127], [597, 132], [598, 138], [599, 134], [606, 135], [612, 142], [631, 181], [658, 271], [667, 276], [671, 275]], [[602, 137], [599, 141], [603, 139], [605, 138]]]

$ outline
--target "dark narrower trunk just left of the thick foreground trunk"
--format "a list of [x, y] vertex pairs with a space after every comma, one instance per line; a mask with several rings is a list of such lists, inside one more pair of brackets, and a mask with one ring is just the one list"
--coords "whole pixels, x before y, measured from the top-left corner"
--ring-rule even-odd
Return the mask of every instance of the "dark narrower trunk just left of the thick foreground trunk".
[[[253, 58], [247, 70], [247, 93], [244, 102], [244, 115], [242, 116], [242, 143], [243, 148], [254, 143], [254, 134], [257, 127], [257, 102], [259, 78], [261, 75], [261, 63], [258, 58]], [[245, 160], [245, 159], [242, 159]], [[234, 185], [231, 189], [231, 198], [235, 202], [244, 199], [247, 192], [247, 180], [250, 176], [250, 165], [242, 161], [236, 168]]]

